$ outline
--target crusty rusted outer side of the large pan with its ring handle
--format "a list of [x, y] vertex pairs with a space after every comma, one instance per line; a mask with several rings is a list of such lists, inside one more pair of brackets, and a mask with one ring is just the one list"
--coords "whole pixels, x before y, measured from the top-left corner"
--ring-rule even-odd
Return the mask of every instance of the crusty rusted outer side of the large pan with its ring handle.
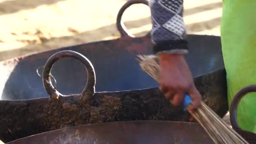
[[[81, 94], [64, 96], [53, 88], [48, 75], [54, 62], [75, 57], [85, 64], [90, 79]], [[195, 78], [203, 100], [219, 116], [227, 112], [227, 88], [224, 69]], [[75, 125], [126, 120], [188, 121], [182, 107], [173, 107], [158, 88], [133, 91], [94, 93], [93, 67], [84, 56], [73, 51], [61, 51], [46, 62], [43, 77], [50, 98], [0, 101], [0, 139], [11, 141], [36, 133]], [[58, 88], [57, 88], [58, 89]], [[88, 91], [90, 90], [90, 91]]]

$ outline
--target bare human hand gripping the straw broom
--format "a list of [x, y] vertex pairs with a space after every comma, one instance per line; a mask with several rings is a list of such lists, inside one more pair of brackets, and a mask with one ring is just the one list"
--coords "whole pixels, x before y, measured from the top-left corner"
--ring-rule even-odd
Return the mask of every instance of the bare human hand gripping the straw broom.
[[185, 93], [192, 98], [189, 111], [200, 106], [202, 97], [195, 87], [188, 64], [181, 54], [160, 54], [160, 89], [175, 106], [184, 101]]

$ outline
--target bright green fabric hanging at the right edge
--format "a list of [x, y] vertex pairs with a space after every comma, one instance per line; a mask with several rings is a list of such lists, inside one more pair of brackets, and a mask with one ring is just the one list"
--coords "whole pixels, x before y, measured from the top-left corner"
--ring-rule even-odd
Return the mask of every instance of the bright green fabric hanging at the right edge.
[[[221, 43], [229, 106], [237, 91], [256, 84], [255, 16], [256, 0], [223, 0]], [[250, 93], [240, 101], [237, 120], [243, 130], [256, 132], [256, 93]]]

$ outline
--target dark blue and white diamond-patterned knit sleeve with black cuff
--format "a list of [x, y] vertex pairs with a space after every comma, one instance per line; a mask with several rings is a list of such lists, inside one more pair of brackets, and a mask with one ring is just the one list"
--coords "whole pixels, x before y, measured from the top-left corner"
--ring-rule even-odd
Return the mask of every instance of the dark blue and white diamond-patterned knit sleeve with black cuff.
[[183, 0], [149, 0], [149, 7], [154, 53], [188, 53], [186, 28], [182, 18]]

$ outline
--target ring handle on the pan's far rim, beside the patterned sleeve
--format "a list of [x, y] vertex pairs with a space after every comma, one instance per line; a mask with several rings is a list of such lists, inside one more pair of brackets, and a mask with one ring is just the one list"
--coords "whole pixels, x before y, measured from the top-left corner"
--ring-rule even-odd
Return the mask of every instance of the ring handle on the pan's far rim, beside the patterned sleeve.
[[128, 32], [128, 30], [126, 29], [125, 25], [123, 24], [122, 20], [122, 16], [124, 11], [126, 10], [126, 8], [128, 8], [129, 6], [133, 5], [133, 4], [145, 4], [145, 5], [149, 5], [149, 1], [148, 0], [128, 0], [119, 10], [118, 14], [117, 14], [117, 30], [120, 32], [121, 37], [125, 37], [125, 36], [129, 36], [129, 37], [134, 37], [134, 35], [130, 34]]

